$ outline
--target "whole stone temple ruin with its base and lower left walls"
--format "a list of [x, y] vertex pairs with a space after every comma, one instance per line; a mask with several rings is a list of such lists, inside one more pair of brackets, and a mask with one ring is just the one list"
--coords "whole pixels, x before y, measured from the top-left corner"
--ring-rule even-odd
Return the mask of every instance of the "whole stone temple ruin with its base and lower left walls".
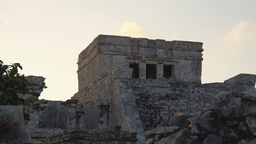
[[38, 100], [44, 78], [28, 79], [31, 143], [143, 144], [146, 130], [211, 108], [219, 92], [256, 92], [253, 74], [201, 84], [202, 45], [99, 35], [79, 54], [70, 100]]

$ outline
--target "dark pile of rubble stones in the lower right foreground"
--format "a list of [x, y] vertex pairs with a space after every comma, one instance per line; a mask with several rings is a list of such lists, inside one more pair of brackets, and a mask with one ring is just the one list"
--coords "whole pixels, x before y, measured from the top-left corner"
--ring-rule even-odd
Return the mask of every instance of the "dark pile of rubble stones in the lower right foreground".
[[213, 107], [178, 113], [170, 126], [145, 132], [147, 144], [255, 144], [256, 92], [220, 92]]

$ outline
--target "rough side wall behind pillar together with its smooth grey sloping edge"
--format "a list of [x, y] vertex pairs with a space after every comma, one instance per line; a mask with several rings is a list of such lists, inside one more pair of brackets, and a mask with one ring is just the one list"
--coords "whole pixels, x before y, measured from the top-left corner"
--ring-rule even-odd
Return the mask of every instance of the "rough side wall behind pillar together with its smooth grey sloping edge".
[[110, 103], [108, 129], [121, 126], [121, 130], [137, 132], [138, 144], [145, 142], [144, 129], [138, 108], [130, 87], [132, 68], [113, 70], [106, 78], [99, 80], [88, 89], [80, 90], [72, 99], [83, 104], [84, 123], [82, 128], [97, 129], [100, 102]]

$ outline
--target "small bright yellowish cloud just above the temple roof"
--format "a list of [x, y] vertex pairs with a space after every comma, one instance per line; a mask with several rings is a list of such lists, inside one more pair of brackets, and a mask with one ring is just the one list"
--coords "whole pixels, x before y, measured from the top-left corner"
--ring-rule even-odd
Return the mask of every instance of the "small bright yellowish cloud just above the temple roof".
[[130, 36], [132, 38], [149, 38], [148, 30], [137, 26], [136, 22], [124, 22], [123, 27], [119, 30], [119, 36]]

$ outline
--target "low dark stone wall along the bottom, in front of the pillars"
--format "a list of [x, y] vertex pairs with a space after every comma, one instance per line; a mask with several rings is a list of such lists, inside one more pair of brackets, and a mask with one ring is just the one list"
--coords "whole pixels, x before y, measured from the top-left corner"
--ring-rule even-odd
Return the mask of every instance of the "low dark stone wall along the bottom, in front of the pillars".
[[31, 128], [30, 144], [135, 144], [135, 132]]

